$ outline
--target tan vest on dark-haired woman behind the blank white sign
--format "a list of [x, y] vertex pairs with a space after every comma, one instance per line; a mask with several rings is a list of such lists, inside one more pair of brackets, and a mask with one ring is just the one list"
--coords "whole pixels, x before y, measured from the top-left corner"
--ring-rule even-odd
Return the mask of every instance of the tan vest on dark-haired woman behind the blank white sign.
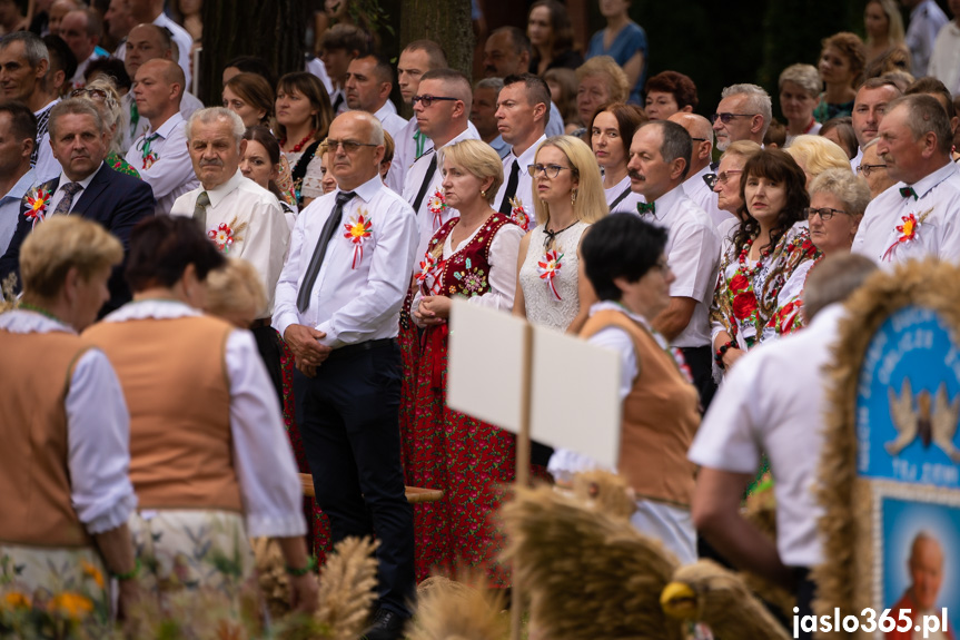
[[624, 313], [597, 312], [580, 335], [588, 338], [606, 327], [630, 335], [640, 368], [623, 400], [617, 469], [637, 498], [689, 508], [694, 465], [686, 451], [700, 427], [696, 387], [650, 332]]

